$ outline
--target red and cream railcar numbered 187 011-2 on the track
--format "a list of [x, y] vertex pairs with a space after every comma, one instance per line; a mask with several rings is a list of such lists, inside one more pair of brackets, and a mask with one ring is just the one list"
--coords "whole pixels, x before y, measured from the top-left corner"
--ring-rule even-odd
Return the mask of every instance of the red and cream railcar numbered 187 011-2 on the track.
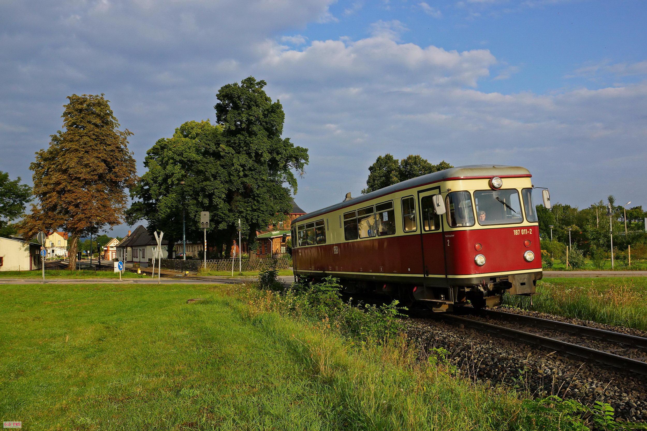
[[[437, 195], [437, 196], [435, 196]], [[547, 191], [545, 205], [549, 205]], [[531, 295], [542, 278], [531, 174], [471, 165], [413, 178], [292, 222], [294, 275], [451, 310]]]

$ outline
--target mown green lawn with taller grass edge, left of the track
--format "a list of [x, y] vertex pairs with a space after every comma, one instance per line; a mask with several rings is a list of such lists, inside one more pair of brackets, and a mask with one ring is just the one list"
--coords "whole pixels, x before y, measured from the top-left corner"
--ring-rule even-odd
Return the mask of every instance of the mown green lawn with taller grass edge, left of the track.
[[584, 429], [405, 344], [351, 348], [232, 289], [0, 286], [0, 417], [25, 430]]

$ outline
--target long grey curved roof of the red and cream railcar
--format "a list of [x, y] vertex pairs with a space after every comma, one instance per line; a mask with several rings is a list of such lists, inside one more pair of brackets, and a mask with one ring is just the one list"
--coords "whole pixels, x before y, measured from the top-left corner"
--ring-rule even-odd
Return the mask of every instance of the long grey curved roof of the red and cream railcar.
[[444, 169], [443, 171], [434, 172], [431, 174], [417, 176], [416, 178], [411, 178], [411, 180], [406, 180], [399, 182], [398, 184], [389, 185], [382, 189], [372, 191], [371, 193], [362, 194], [356, 198], [345, 200], [338, 204], [330, 205], [322, 209], [313, 211], [312, 213], [307, 213], [298, 218], [295, 218], [292, 223], [300, 222], [301, 220], [307, 220], [314, 216], [330, 213], [331, 211], [336, 211], [341, 208], [349, 207], [351, 205], [360, 204], [364, 201], [378, 198], [384, 196], [385, 194], [395, 193], [400, 190], [410, 189], [412, 187], [417, 187], [419, 185], [430, 184], [433, 182], [439, 182], [442, 180], [461, 180], [469, 178], [483, 178], [490, 176], [530, 176], [531, 173], [528, 169], [521, 166], [506, 166], [506, 165], [465, 165], [450, 167], [450, 169]]

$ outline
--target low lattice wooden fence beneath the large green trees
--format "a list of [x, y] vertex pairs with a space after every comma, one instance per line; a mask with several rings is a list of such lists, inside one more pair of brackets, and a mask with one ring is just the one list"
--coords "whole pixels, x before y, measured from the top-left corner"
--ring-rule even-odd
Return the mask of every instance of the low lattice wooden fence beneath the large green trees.
[[[152, 265], [153, 260], [148, 259], [149, 266]], [[199, 269], [204, 268], [204, 260], [182, 260], [182, 259], [162, 259], [160, 262], [162, 268], [171, 269], [171, 271], [191, 271], [197, 272]], [[292, 257], [290, 256], [281, 256], [278, 258], [264, 258], [264, 259], [243, 259], [242, 260], [242, 270], [243, 271], [262, 271], [263, 269], [276, 268], [276, 269], [288, 269], [292, 266]], [[155, 262], [157, 266], [157, 262]], [[232, 260], [231, 259], [208, 259], [206, 261], [207, 271], [231, 271], [232, 270]], [[238, 259], [234, 260], [234, 271], [238, 272]]]

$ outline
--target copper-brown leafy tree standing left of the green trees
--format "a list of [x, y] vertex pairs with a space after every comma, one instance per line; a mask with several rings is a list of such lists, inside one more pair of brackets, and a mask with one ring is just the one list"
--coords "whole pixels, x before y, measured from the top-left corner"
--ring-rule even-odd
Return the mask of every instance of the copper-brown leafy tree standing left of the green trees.
[[21, 231], [31, 237], [38, 231], [70, 233], [69, 269], [76, 266], [78, 240], [91, 230], [121, 223], [126, 211], [126, 189], [137, 180], [133, 153], [128, 150], [127, 129], [119, 122], [104, 95], [68, 97], [63, 127], [51, 136], [48, 149], [36, 152], [32, 213]]

